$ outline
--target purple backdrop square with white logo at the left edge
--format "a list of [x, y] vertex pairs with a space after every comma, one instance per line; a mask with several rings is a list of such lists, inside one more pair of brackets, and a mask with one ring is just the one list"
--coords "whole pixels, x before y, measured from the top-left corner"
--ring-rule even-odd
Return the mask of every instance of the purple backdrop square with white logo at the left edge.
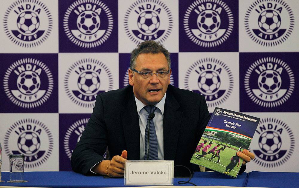
[[57, 54], [0, 54], [0, 113], [58, 112]]

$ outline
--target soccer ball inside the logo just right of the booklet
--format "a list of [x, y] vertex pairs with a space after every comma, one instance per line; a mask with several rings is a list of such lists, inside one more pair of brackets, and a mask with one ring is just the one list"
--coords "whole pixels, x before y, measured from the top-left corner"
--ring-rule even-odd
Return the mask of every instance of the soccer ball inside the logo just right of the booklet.
[[259, 139], [260, 149], [268, 154], [277, 152], [281, 147], [280, 136], [273, 131], [264, 132]]

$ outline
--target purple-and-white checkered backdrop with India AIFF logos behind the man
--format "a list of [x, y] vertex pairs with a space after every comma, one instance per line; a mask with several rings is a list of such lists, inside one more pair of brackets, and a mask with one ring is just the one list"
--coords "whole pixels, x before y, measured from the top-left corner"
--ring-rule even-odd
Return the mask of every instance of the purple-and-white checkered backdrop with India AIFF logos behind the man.
[[130, 52], [155, 40], [170, 84], [261, 118], [246, 172], [299, 172], [298, 18], [298, 0], [1, 1], [2, 170], [21, 153], [25, 171], [70, 171], [97, 94], [127, 86]]

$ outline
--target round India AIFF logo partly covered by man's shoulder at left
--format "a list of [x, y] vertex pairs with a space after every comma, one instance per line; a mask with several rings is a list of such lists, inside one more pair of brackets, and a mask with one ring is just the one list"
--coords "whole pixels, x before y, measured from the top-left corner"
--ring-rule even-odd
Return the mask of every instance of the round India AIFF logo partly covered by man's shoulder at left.
[[82, 107], [93, 107], [99, 93], [113, 88], [109, 67], [91, 58], [75, 62], [66, 72], [64, 83], [68, 97]]

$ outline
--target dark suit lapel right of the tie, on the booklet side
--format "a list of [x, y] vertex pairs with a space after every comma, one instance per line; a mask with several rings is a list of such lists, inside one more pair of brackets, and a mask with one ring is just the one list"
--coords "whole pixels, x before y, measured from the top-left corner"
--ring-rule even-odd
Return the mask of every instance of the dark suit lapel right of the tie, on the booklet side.
[[163, 117], [164, 160], [174, 160], [176, 157], [176, 146], [183, 116], [183, 113], [178, 111], [179, 107], [180, 104], [171, 92], [167, 92]]

